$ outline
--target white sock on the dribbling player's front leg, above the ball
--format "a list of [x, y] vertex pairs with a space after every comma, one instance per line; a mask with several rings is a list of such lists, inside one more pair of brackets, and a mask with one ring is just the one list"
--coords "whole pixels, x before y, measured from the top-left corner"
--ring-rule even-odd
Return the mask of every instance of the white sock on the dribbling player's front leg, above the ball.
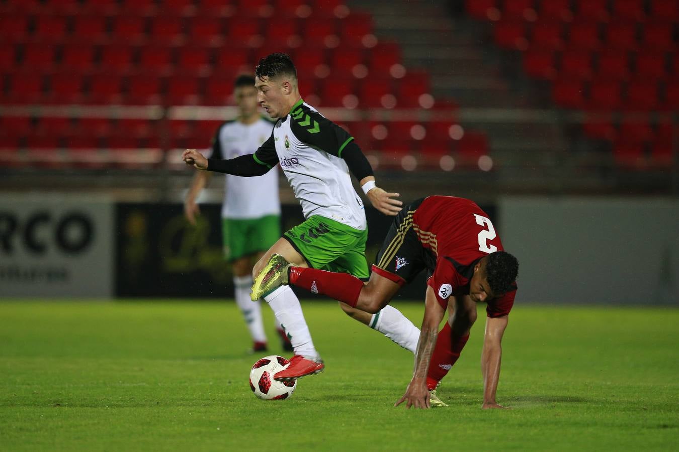
[[264, 297], [265, 302], [274, 310], [276, 319], [293, 344], [295, 354], [301, 354], [308, 359], [319, 359], [320, 355], [314, 348], [309, 327], [301, 312], [301, 305], [297, 295], [290, 286], [281, 286]]

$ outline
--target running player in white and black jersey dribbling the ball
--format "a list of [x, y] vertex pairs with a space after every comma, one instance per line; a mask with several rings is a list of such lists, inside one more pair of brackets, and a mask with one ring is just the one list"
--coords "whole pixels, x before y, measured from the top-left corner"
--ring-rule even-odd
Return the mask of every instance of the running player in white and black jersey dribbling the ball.
[[[276, 255], [297, 266], [347, 272], [365, 280], [369, 276], [367, 222], [349, 173], [380, 212], [396, 215], [402, 203], [394, 199], [398, 193], [375, 186], [373, 170], [353, 137], [301, 99], [297, 70], [289, 56], [271, 54], [259, 60], [255, 87], [259, 104], [278, 121], [270, 138], [253, 155], [208, 160], [195, 149], [187, 149], [182, 158], [198, 169], [238, 176], [259, 176], [280, 163], [301, 203], [306, 221], [285, 232], [253, 269], [253, 298], [261, 295], [268, 302], [295, 350], [287, 369], [274, 375], [285, 381], [323, 371], [324, 365], [292, 289], [282, 286], [261, 293], [261, 284], [282, 270]], [[354, 319], [415, 351], [420, 330], [396, 308], [386, 306], [378, 314], [368, 314], [341, 306]]]

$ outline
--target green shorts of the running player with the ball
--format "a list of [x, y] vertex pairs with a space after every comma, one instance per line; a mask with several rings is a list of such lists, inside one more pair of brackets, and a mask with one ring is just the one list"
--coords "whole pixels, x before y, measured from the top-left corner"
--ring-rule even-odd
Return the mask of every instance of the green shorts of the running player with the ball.
[[365, 260], [367, 230], [314, 215], [283, 234], [311, 268], [349, 273], [356, 278], [369, 276]]

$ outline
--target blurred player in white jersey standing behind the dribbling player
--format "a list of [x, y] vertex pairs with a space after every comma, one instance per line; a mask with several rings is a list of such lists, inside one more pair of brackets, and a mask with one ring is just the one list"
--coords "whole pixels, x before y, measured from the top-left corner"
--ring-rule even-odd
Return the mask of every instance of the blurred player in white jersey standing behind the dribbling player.
[[[251, 154], [271, 136], [274, 124], [264, 119], [257, 108], [255, 77], [241, 75], [234, 83], [234, 100], [238, 118], [223, 123], [208, 151], [211, 159], [234, 159]], [[196, 224], [200, 209], [196, 198], [207, 185], [212, 173], [198, 171], [184, 201], [184, 213]], [[224, 202], [221, 208], [224, 258], [232, 265], [234, 297], [253, 340], [253, 352], [267, 350], [267, 338], [259, 300], [250, 300], [253, 284], [253, 264], [280, 237], [280, 200], [278, 171], [269, 171], [259, 178], [226, 176]], [[292, 344], [276, 321], [283, 349], [292, 351]]]

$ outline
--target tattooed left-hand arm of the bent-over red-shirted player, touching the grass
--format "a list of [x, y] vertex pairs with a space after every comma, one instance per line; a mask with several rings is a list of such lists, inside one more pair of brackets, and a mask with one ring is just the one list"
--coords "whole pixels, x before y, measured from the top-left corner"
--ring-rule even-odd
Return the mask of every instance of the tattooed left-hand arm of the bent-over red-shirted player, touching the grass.
[[439, 323], [443, 319], [445, 310], [436, 300], [434, 289], [427, 286], [426, 298], [424, 301], [424, 320], [422, 321], [422, 331], [420, 331], [420, 342], [418, 351], [415, 354], [415, 371], [413, 379], [410, 380], [408, 388], [401, 399], [394, 404], [394, 407], [407, 400], [406, 407], [430, 408], [429, 391], [426, 388], [426, 374], [429, 369], [429, 361], [436, 346], [437, 335], [439, 334]]

